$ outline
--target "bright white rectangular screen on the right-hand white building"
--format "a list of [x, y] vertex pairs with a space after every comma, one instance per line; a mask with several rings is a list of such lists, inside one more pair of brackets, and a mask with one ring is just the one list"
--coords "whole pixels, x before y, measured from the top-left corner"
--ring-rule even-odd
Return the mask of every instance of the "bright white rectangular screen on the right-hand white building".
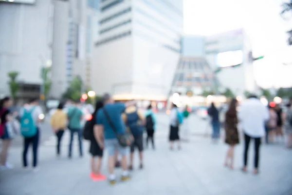
[[241, 50], [221, 52], [217, 55], [216, 64], [219, 67], [228, 67], [241, 64], [243, 52]]

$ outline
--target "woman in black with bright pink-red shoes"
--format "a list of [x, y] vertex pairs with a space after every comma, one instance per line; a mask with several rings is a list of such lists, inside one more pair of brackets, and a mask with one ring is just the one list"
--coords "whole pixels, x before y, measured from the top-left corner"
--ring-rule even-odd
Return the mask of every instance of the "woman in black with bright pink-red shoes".
[[92, 128], [92, 137], [91, 137], [91, 144], [90, 144], [90, 154], [91, 154], [91, 178], [93, 180], [104, 180], [106, 176], [100, 173], [101, 163], [102, 163], [102, 156], [103, 156], [103, 149], [101, 149], [97, 143], [98, 135], [95, 133], [95, 125], [96, 125], [96, 114], [99, 109], [103, 107], [102, 101], [97, 101], [95, 104], [95, 110], [92, 113], [91, 119], [91, 128]]

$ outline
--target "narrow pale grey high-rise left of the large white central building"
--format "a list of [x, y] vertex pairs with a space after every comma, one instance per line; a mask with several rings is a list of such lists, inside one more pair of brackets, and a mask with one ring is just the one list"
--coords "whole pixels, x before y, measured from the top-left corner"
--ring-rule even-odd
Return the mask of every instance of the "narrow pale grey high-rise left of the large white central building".
[[72, 79], [91, 82], [91, 55], [99, 0], [54, 0], [51, 96], [60, 98]]

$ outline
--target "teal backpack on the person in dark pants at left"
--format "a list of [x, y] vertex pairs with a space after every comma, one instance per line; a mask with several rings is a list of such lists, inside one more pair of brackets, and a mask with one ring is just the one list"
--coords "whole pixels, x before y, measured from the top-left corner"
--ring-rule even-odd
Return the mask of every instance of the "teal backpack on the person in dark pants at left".
[[33, 111], [35, 107], [31, 110], [24, 109], [23, 116], [20, 118], [20, 132], [23, 137], [33, 137], [37, 134], [37, 125], [33, 119]]

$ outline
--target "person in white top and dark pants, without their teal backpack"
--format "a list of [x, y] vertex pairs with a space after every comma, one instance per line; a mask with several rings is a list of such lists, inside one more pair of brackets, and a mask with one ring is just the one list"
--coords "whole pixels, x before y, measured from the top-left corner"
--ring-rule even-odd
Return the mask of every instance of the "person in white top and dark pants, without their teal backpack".
[[[31, 118], [33, 119], [33, 122], [35, 123], [37, 130], [35, 135], [31, 137], [25, 137], [24, 136], [24, 147], [23, 147], [23, 154], [22, 154], [22, 160], [23, 160], [23, 167], [28, 168], [27, 163], [27, 152], [30, 145], [33, 146], [33, 168], [34, 171], [37, 171], [37, 151], [38, 151], [38, 143], [39, 143], [39, 137], [40, 137], [40, 128], [39, 124], [42, 121], [40, 118], [40, 115], [43, 114], [40, 106], [38, 106], [38, 99], [34, 98], [30, 100], [29, 105], [25, 106], [19, 113], [20, 120], [23, 120], [23, 117], [25, 117], [25, 113], [31, 111]], [[22, 133], [22, 132], [21, 132]]]

